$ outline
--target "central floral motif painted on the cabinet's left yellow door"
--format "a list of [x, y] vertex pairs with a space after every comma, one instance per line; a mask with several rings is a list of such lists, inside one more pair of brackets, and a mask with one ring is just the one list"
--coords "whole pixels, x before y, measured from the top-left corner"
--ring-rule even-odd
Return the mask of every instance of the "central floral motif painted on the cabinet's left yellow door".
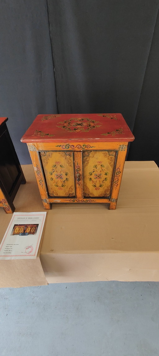
[[66, 184], [69, 181], [68, 172], [65, 171], [65, 167], [60, 161], [56, 161], [53, 164], [49, 174], [51, 176], [50, 180], [54, 183], [58, 190], [62, 190], [62, 188], [66, 187]]

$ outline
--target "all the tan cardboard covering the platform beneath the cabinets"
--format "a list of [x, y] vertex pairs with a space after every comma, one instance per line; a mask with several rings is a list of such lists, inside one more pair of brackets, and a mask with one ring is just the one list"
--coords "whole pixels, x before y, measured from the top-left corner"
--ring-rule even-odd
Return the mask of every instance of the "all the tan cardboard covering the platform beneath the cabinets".
[[[32, 165], [22, 166], [16, 211], [42, 211]], [[31, 265], [1, 265], [0, 287], [82, 281], [159, 281], [159, 169], [153, 161], [125, 162], [116, 210], [106, 204], [53, 204], [42, 247]], [[0, 237], [12, 214], [0, 209]], [[39, 255], [38, 255], [39, 256]], [[25, 263], [23, 260], [22, 263]], [[42, 269], [43, 267], [43, 269]], [[45, 276], [44, 276], [44, 273]], [[46, 281], [46, 279], [47, 281]]]

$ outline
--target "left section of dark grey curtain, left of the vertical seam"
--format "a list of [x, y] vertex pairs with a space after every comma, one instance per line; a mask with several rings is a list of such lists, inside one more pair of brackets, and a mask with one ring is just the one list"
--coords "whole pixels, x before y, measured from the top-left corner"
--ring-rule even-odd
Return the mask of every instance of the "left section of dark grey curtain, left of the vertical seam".
[[20, 142], [38, 114], [57, 112], [46, 0], [1, 2], [0, 116], [21, 164], [31, 163]]

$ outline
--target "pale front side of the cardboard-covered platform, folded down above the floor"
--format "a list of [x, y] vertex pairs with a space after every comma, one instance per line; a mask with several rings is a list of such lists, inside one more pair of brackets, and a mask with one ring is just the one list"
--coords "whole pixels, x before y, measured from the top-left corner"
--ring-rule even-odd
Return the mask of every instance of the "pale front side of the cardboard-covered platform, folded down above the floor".
[[40, 260], [48, 283], [159, 281], [159, 252], [46, 253]]

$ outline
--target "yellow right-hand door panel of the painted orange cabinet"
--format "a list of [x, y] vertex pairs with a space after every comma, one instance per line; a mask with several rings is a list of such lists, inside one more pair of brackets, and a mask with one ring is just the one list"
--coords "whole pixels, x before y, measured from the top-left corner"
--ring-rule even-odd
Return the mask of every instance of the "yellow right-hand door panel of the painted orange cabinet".
[[83, 196], [109, 197], [116, 151], [83, 152]]

